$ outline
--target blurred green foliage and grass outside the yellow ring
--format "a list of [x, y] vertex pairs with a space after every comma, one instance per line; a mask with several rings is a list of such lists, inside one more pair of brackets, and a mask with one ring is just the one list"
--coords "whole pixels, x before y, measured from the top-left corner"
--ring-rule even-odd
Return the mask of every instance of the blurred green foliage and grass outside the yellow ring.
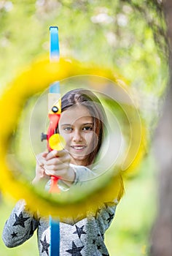
[[[59, 27], [61, 56], [116, 70], [138, 96], [150, 150], [136, 176], [125, 183], [106, 244], [112, 256], [148, 255], [158, 169], [151, 141], [168, 81], [161, 1], [0, 1], [1, 93], [23, 67], [49, 53], [50, 26]], [[1, 198], [0, 230], [14, 203], [10, 197]], [[36, 234], [15, 249], [7, 249], [0, 240], [0, 248], [1, 255], [38, 255]]]

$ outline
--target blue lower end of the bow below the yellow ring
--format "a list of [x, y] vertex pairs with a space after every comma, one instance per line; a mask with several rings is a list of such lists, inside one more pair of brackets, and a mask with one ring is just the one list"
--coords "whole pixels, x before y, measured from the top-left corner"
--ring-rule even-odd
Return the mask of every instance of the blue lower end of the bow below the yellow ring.
[[60, 225], [50, 217], [50, 256], [60, 255]]

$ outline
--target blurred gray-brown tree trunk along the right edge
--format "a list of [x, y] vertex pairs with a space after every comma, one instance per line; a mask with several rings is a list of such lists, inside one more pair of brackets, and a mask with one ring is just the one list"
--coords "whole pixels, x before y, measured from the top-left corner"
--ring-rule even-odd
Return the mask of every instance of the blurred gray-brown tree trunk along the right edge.
[[170, 45], [170, 80], [163, 116], [155, 133], [155, 153], [160, 167], [158, 176], [158, 212], [152, 230], [152, 256], [172, 255], [172, 1], [164, 1], [164, 13], [168, 24]]

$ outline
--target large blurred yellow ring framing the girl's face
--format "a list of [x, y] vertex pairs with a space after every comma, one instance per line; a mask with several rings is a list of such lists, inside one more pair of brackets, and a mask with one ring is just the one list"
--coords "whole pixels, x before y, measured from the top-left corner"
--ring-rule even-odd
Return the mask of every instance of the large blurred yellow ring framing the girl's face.
[[[58, 199], [42, 193], [39, 189], [32, 186], [23, 178], [16, 178], [12, 170], [7, 164], [7, 152], [9, 148], [10, 138], [17, 127], [18, 116], [25, 105], [26, 99], [34, 94], [48, 88], [48, 86], [55, 80], [63, 80], [77, 75], [95, 75], [103, 78], [108, 78], [116, 83], [118, 86], [128, 90], [124, 81], [120, 76], [114, 75], [109, 69], [103, 69], [88, 64], [80, 64], [78, 61], [60, 59], [59, 62], [50, 62], [50, 60], [43, 59], [34, 62], [31, 67], [25, 69], [11, 84], [9, 84], [6, 91], [0, 100], [0, 118], [1, 118], [1, 132], [0, 132], [0, 162], [1, 162], [1, 179], [0, 189], [4, 195], [10, 194], [16, 200], [24, 198], [28, 207], [32, 211], [39, 209], [40, 214], [47, 216], [77, 217], [79, 214], [86, 214], [87, 211], [95, 211], [101, 206], [103, 202], [111, 202], [114, 198], [120, 199], [123, 191], [121, 173], [128, 173], [138, 165], [141, 161], [145, 151], [145, 129], [141, 124], [141, 119], [137, 113], [134, 124], [130, 124], [131, 130], [136, 130], [138, 136], [133, 136], [130, 140], [130, 149], [128, 157], [125, 159], [123, 170], [118, 170], [116, 173], [105, 178], [100, 178], [99, 185], [95, 189], [85, 195], [85, 197], [77, 198], [77, 200], [68, 200], [66, 195], [58, 196]], [[5, 116], [4, 116], [5, 109]], [[134, 125], [134, 127], [132, 127]], [[139, 144], [135, 150], [133, 144]], [[130, 158], [133, 162], [130, 162]], [[36, 203], [35, 203], [36, 202]], [[48, 210], [47, 210], [48, 209]]]

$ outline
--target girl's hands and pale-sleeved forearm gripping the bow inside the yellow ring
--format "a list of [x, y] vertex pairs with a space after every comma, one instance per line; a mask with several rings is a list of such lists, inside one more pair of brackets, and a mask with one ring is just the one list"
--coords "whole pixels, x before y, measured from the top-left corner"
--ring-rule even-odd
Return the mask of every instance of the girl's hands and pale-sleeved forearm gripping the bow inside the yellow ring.
[[[71, 187], [74, 184], [85, 184], [95, 178], [93, 170], [85, 166], [72, 165], [71, 156], [66, 150], [43, 152], [36, 156], [36, 175], [33, 184], [50, 176], [60, 176], [59, 184]], [[50, 181], [48, 182], [50, 185]]]

